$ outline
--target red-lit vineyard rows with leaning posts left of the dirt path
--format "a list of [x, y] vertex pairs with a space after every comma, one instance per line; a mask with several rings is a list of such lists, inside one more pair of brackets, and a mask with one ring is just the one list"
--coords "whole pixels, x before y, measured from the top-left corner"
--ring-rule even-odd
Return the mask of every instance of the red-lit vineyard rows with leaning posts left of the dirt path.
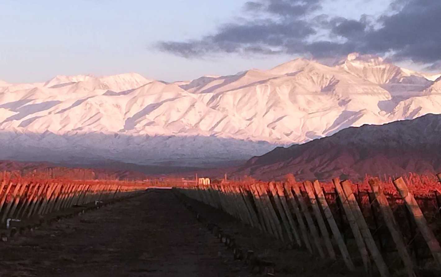
[[[62, 214], [70, 208], [97, 207], [106, 201], [131, 197], [150, 183], [108, 180], [21, 178], [3, 172], [0, 181], [0, 230], [12, 234], [32, 228], [46, 216]], [[2, 233], [7, 240], [6, 232]]]

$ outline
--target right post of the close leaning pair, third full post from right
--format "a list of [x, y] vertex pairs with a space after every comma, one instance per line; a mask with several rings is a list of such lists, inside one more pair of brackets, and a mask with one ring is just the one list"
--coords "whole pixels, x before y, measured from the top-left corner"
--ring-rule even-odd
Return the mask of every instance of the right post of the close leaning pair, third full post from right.
[[375, 264], [377, 265], [377, 269], [380, 272], [381, 276], [387, 277], [389, 276], [389, 269], [386, 266], [385, 261], [383, 260], [383, 256], [381, 256], [380, 251], [377, 248], [377, 244], [370, 233], [369, 227], [366, 224], [366, 220], [363, 217], [363, 213], [360, 210], [357, 199], [355, 198], [354, 192], [352, 191], [351, 183], [349, 181], [341, 182], [343, 186], [344, 193], [348, 198], [349, 206], [352, 209], [352, 212], [355, 216], [355, 222], [360, 228], [360, 232], [363, 236], [364, 241], [366, 242], [366, 246], [374, 259]]

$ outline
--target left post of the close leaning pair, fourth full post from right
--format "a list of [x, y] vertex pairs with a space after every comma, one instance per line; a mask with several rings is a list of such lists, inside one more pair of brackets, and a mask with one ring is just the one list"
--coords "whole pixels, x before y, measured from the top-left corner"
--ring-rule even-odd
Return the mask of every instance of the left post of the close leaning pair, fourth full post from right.
[[343, 191], [343, 188], [340, 185], [340, 179], [335, 178], [333, 179], [334, 186], [336, 188], [338, 197], [340, 198], [340, 202], [343, 206], [344, 213], [346, 214], [346, 218], [348, 219], [349, 226], [351, 226], [352, 234], [354, 235], [355, 242], [359, 248], [361, 258], [363, 260], [363, 265], [366, 273], [370, 272], [370, 260], [369, 260], [369, 254], [366, 249], [366, 245], [364, 244], [363, 237], [360, 233], [359, 227], [357, 223], [355, 222], [355, 216], [352, 213], [352, 209], [349, 206], [348, 198], [346, 197], [346, 194]]

